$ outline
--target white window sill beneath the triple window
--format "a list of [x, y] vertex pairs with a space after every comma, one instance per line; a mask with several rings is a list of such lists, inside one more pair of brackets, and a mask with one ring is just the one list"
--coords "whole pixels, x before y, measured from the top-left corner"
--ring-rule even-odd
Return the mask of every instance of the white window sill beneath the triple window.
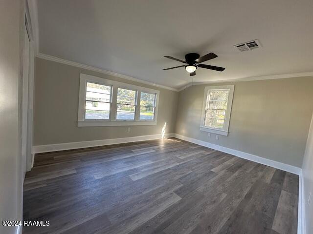
[[156, 121], [77, 121], [77, 127], [156, 125]]

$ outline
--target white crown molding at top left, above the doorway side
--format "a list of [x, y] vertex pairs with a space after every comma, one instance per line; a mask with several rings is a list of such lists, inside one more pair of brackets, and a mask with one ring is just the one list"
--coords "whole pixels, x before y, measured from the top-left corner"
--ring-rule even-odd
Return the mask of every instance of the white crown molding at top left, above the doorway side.
[[38, 24], [38, 7], [37, 0], [27, 0], [26, 15], [28, 18], [28, 25], [31, 28], [31, 40], [35, 44], [35, 53], [39, 52], [39, 24]]

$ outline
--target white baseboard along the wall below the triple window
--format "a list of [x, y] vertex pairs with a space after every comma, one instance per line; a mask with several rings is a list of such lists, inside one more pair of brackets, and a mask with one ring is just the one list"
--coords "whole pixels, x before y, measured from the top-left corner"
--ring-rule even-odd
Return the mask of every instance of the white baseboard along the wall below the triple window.
[[137, 136], [137, 137], [122, 137], [114, 139], [104, 139], [104, 140], [91, 140], [91, 141], [79, 141], [79, 142], [69, 142], [61, 144], [51, 144], [51, 145], [35, 145], [33, 146], [33, 153], [45, 153], [45, 152], [54, 152], [61, 150], [72, 150], [80, 148], [88, 148], [94, 146], [103, 146], [103, 145], [113, 145], [120, 143], [136, 142], [143, 140], [155, 140], [161, 138], [174, 137], [174, 133], [166, 133], [164, 136], [162, 134], [155, 135], [146, 135], [146, 136]]

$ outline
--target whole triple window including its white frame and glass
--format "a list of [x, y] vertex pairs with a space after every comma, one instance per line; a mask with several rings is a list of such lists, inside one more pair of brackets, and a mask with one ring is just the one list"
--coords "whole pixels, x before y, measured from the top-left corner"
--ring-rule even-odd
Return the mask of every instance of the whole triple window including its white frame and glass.
[[80, 74], [77, 125], [156, 125], [158, 98], [158, 90]]

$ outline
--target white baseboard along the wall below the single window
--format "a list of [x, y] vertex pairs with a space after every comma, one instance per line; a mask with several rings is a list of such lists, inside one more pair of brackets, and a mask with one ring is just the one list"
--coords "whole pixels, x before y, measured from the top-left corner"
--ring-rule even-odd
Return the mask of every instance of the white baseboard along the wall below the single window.
[[239, 150], [234, 150], [234, 149], [227, 148], [224, 146], [212, 144], [212, 143], [209, 143], [209, 142], [206, 142], [203, 140], [198, 140], [198, 139], [191, 138], [191, 137], [185, 137], [185, 136], [182, 136], [179, 134], [175, 134], [175, 137], [182, 139], [182, 140], [186, 140], [186, 141], [195, 143], [195, 144], [198, 144], [198, 145], [202, 145], [202, 146], [214, 149], [214, 150], [222, 151], [222, 152], [230, 154], [230, 155], [242, 157], [242, 158], [245, 158], [245, 159], [250, 160], [250, 161], [254, 161], [254, 162], [258, 162], [258, 163], [261, 163], [261, 164], [264, 164], [264, 165], [267, 165], [270, 167], [274, 167], [274, 168], [277, 168], [277, 169], [280, 169], [280, 170], [283, 170], [286, 172], [290, 172], [290, 173], [297, 174], [297, 175], [301, 174], [301, 168], [291, 166], [289, 164], [273, 161], [273, 160], [270, 160], [270, 159], [267, 159], [264, 157], [260, 157], [260, 156], [252, 155], [252, 154], [245, 153], [245, 152], [242, 152]]

